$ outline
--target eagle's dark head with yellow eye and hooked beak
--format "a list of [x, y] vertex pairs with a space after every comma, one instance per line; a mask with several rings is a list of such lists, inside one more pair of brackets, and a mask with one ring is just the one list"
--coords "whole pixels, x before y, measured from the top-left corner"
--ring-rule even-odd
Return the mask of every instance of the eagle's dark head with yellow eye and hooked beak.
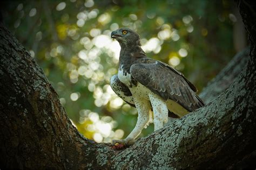
[[140, 45], [139, 34], [131, 29], [121, 28], [111, 33], [111, 38], [116, 39], [121, 47]]

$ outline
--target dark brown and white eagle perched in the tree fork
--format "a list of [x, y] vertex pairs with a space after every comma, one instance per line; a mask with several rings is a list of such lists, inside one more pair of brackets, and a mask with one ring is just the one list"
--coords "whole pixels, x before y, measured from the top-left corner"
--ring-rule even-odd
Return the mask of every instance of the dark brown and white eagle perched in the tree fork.
[[171, 118], [180, 118], [200, 107], [204, 102], [196, 94], [197, 88], [178, 70], [164, 62], [147, 58], [141, 48], [139, 34], [120, 28], [111, 33], [120, 46], [118, 74], [110, 79], [110, 86], [120, 98], [138, 110], [138, 120], [132, 132], [114, 144], [131, 145], [143, 128], [151, 123], [154, 131], [163, 128]]

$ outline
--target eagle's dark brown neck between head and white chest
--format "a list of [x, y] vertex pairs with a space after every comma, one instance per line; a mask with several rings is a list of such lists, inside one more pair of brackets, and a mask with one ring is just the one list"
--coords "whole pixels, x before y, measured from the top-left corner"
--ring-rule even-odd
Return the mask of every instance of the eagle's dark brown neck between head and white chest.
[[122, 69], [123, 72], [130, 74], [130, 67], [138, 59], [146, 58], [146, 54], [139, 44], [134, 44], [129, 47], [121, 46], [120, 56], [119, 56], [119, 69]]

